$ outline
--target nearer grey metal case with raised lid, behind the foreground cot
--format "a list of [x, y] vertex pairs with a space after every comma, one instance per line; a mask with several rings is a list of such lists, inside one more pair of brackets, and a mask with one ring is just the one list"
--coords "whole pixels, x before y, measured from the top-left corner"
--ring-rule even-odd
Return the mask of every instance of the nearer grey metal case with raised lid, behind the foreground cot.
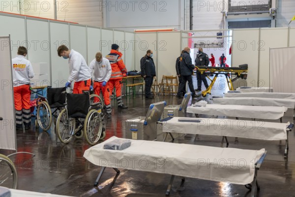
[[157, 140], [157, 121], [161, 119], [166, 101], [149, 105], [146, 117], [126, 120], [127, 139]]

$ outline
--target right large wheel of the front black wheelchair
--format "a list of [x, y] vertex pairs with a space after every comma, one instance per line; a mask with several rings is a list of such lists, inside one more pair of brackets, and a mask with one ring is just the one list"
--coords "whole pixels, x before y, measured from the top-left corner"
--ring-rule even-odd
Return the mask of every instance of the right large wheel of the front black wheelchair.
[[90, 145], [94, 145], [100, 138], [102, 132], [102, 119], [99, 112], [92, 109], [88, 112], [85, 124], [84, 124], [84, 135], [86, 141]]

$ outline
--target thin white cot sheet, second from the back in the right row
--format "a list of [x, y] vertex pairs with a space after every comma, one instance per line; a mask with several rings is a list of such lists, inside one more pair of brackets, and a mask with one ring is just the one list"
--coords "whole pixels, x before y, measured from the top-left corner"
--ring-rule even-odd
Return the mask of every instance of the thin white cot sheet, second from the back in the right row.
[[224, 93], [224, 97], [255, 97], [271, 99], [295, 99], [295, 93]]

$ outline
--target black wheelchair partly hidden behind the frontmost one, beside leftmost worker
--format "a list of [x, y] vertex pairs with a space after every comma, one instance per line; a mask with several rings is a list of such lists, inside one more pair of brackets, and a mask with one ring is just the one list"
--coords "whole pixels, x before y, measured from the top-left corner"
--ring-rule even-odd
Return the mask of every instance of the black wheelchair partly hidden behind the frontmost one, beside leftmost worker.
[[[52, 88], [47, 89], [47, 98], [38, 96], [37, 99], [37, 115], [35, 120], [35, 126], [38, 125], [42, 130], [47, 131], [51, 127], [52, 118], [54, 117], [54, 123], [58, 118], [58, 111], [64, 108], [65, 103], [65, 88]], [[51, 109], [54, 109], [52, 112]]]

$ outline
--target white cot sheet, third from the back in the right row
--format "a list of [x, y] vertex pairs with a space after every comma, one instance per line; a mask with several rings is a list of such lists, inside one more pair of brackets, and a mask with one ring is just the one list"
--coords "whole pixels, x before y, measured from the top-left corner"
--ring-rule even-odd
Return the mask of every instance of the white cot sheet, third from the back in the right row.
[[258, 106], [284, 106], [295, 108], [295, 99], [271, 99], [254, 97], [225, 97], [212, 99], [214, 104], [232, 104], [232, 105], [258, 105]]

